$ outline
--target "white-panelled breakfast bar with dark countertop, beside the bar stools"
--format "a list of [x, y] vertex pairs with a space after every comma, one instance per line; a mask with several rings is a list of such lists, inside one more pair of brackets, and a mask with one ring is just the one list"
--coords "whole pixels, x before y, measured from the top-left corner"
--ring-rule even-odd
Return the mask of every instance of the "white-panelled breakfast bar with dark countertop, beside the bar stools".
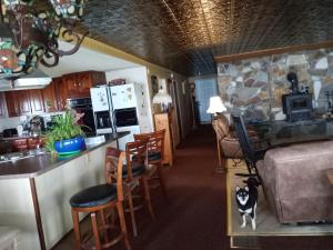
[[0, 162], [0, 221], [20, 230], [19, 250], [49, 250], [72, 229], [70, 197], [104, 182], [105, 149], [127, 134], [107, 136], [65, 159], [36, 153]]

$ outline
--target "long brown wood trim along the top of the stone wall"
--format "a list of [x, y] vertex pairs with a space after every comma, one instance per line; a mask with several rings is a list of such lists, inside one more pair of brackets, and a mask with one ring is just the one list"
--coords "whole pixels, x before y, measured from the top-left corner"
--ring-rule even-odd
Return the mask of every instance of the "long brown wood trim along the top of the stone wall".
[[261, 57], [292, 52], [292, 51], [315, 50], [315, 49], [324, 49], [324, 48], [333, 48], [333, 40], [317, 42], [317, 43], [302, 44], [302, 46], [290, 46], [290, 47], [283, 47], [283, 48], [274, 48], [274, 49], [258, 50], [258, 51], [252, 51], [252, 52], [220, 56], [220, 57], [214, 57], [214, 60], [216, 63], [232, 62], [232, 61], [236, 61], [236, 60], [243, 60], [243, 59], [250, 59], [250, 58], [261, 58]]

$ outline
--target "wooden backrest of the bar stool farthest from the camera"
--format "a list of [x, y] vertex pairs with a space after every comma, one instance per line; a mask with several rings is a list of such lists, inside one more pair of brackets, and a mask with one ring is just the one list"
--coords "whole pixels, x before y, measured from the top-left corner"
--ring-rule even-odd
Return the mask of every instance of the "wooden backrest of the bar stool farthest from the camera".
[[151, 132], [151, 133], [139, 133], [134, 134], [134, 140], [144, 140], [149, 138], [148, 141], [148, 153], [161, 153], [161, 159], [163, 159], [164, 153], [164, 138], [165, 138], [165, 129]]

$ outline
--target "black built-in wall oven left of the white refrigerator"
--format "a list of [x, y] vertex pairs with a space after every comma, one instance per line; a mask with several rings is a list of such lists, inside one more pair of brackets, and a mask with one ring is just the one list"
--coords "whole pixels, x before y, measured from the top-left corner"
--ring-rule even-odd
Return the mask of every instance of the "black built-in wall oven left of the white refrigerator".
[[77, 113], [84, 113], [84, 116], [78, 121], [78, 124], [82, 124], [83, 132], [94, 132], [95, 126], [93, 121], [91, 98], [68, 99], [67, 102], [71, 109], [77, 111]]

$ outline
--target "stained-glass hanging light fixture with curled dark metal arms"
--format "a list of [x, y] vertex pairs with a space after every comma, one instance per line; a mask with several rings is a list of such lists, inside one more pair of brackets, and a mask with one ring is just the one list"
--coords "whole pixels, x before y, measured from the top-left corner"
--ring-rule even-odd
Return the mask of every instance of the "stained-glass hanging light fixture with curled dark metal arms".
[[[30, 73], [41, 62], [54, 67], [62, 56], [77, 52], [88, 34], [73, 31], [88, 0], [49, 0], [53, 11], [37, 11], [34, 0], [0, 0], [0, 77]], [[59, 49], [62, 38], [74, 46]]]

